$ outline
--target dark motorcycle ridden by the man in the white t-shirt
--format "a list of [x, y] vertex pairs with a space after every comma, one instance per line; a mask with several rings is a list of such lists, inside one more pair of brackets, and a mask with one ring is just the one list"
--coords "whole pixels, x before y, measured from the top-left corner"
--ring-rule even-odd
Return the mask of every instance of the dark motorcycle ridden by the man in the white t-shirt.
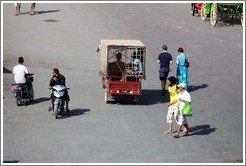
[[12, 93], [16, 98], [17, 106], [28, 105], [33, 101], [34, 90], [33, 90], [33, 74], [27, 74], [27, 82], [23, 84], [12, 84]]

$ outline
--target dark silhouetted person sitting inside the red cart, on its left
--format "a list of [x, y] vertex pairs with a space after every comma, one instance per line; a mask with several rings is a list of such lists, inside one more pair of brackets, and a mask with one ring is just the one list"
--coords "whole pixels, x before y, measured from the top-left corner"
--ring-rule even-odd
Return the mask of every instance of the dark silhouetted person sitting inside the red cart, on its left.
[[121, 61], [122, 54], [118, 52], [116, 60], [108, 64], [108, 76], [113, 80], [123, 80], [125, 77], [126, 64]]

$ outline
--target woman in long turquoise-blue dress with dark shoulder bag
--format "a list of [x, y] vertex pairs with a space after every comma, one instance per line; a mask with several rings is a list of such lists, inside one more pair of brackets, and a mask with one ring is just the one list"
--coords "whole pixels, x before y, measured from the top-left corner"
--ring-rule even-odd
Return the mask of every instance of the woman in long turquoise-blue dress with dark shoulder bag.
[[185, 67], [184, 63], [185, 60], [189, 62], [189, 57], [188, 55], [184, 54], [184, 49], [180, 47], [178, 49], [179, 55], [177, 55], [177, 79], [178, 79], [178, 84], [180, 83], [185, 83], [186, 89], [189, 87], [189, 71], [188, 68]]

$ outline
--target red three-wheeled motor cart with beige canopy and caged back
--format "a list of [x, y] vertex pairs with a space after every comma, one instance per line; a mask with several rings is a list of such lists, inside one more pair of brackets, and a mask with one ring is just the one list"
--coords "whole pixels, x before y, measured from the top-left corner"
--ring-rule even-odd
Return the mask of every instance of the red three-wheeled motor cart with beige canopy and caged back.
[[105, 102], [119, 96], [131, 96], [134, 103], [141, 95], [141, 81], [146, 79], [146, 47], [139, 40], [101, 40], [100, 75]]

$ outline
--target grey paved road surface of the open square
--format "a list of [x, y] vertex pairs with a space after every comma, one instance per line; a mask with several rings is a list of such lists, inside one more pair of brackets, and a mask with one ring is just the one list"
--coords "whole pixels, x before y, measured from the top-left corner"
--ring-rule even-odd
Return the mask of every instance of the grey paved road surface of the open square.
[[[190, 15], [190, 4], [29, 4], [14, 16], [3, 4], [2, 162], [243, 163], [243, 27]], [[147, 80], [138, 105], [104, 103], [98, 75], [101, 39], [139, 39], [148, 48]], [[192, 136], [167, 129], [157, 54], [167, 44], [191, 58]], [[17, 107], [10, 93], [17, 58], [35, 73], [35, 101]], [[71, 87], [70, 116], [47, 111], [48, 82], [58, 67]], [[175, 75], [176, 67], [170, 75]], [[174, 127], [177, 127], [174, 124]]]

